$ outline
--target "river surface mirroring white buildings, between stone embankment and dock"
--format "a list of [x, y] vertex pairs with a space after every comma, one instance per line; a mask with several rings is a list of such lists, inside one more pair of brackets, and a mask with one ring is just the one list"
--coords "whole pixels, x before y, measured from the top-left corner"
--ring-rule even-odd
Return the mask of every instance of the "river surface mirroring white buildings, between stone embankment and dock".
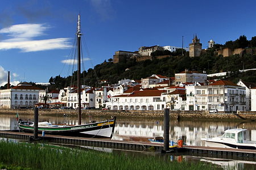
[[[31, 119], [32, 116], [23, 116], [23, 119]], [[82, 123], [89, 122], [90, 118], [83, 118]], [[96, 121], [104, 121], [106, 118], [94, 118]], [[52, 124], [69, 124], [76, 125], [76, 117], [46, 117], [39, 116], [39, 121], [48, 121]], [[115, 125], [114, 140], [129, 140], [129, 141], [147, 141], [148, 138], [163, 137], [163, 120], [159, 119], [134, 119], [134, 118], [117, 118]], [[170, 121], [170, 139], [177, 139], [184, 135], [187, 137], [187, 145], [204, 146], [201, 138], [206, 134], [214, 133], [222, 135], [226, 129], [230, 128], [245, 128], [246, 140], [256, 140], [256, 127], [254, 122], [232, 122], [232, 121], [199, 121], [199, 120], [171, 120]], [[17, 121], [13, 115], [1, 115], [0, 130], [16, 130]]]

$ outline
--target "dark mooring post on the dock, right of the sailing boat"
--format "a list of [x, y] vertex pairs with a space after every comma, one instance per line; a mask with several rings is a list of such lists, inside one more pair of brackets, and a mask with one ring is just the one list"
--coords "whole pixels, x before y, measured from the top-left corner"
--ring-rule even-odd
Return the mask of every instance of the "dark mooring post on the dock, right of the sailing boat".
[[169, 128], [169, 122], [170, 122], [170, 116], [169, 116], [170, 109], [164, 109], [164, 151], [169, 151], [169, 134], [170, 134], [170, 128]]

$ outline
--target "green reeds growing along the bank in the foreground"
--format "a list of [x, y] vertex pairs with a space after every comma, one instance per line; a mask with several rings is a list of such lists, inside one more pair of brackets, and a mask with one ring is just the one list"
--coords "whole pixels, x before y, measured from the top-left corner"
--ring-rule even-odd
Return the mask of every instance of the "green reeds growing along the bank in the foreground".
[[216, 169], [203, 163], [178, 163], [154, 156], [134, 156], [34, 143], [0, 141], [0, 162], [32, 169]]

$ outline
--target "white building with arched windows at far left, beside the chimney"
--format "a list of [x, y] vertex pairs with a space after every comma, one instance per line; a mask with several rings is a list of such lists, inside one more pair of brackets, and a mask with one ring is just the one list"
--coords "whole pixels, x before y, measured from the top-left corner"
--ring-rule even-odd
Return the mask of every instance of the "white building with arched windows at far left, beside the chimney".
[[39, 92], [44, 92], [44, 90], [26, 82], [0, 90], [0, 108], [34, 107], [38, 103]]

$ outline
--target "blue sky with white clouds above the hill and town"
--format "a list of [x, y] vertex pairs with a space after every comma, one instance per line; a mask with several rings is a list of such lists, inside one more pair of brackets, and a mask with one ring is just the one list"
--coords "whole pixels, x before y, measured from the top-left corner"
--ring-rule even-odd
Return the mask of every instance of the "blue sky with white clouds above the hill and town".
[[71, 74], [68, 63], [81, 15], [84, 70], [140, 46], [182, 46], [197, 35], [203, 48], [256, 36], [256, 1], [1, 0], [0, 86], [48, 82]]

